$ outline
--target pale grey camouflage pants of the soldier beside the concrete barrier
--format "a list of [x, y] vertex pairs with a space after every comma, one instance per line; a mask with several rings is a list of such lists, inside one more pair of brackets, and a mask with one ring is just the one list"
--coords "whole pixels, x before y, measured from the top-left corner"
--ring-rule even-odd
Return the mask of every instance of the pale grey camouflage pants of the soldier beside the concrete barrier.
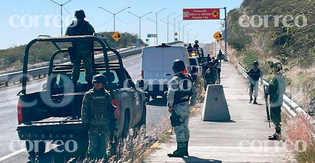
[[183, 123], [181, 125], [174, 127], [174, 132], [176, 134], [176, 142], [188, 142], [190, 137], [188, 129], [188, 122], [190, 116], [188, 102], [175, 105], [174, 108], [175, 114], [179, 115], [183, 119]]

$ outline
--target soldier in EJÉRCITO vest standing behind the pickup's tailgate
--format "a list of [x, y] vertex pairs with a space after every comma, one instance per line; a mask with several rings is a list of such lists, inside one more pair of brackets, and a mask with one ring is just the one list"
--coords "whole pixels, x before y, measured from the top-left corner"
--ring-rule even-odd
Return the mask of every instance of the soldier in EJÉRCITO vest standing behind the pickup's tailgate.
[[100, 139], [100, 157], [109, 155], [107, 142], [109, 141], [110, 126], [116, 125], [116, 117], [112, 107], [112, 97], [105, 90], [106, 78], [104, 75], [95, 75], [94, 88], [85, 93], [82, 103], [82, 124], [89, 125], [89, 157], [97, 157], [97, 143]]

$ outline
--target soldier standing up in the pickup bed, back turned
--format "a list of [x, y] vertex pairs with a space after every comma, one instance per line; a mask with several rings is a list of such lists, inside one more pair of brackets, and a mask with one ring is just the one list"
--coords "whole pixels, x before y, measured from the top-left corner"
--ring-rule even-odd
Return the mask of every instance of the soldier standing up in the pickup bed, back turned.
[[[92, 25], [85, 21], [84, 11], [77, 9], [74, 16], [77, 17], [77, 22], [72, 21], [72, 24], [68, 26], [66, 35], [69, 36], [81, 36], [81, 35], [93, 35], [94, 28]], [[74, 23], [77, 23], [76, 26], [73, 26]], [[73, 27], [72, 27], [73, 26]], [[83, 60], [83, 65], [85, 68], [85, 80], [88, 82], [88, 88], [91, 89], [92, 85], [92, 59], [91, 59], [91, 49], [93, 48], [93, 43], [90, 41], [82, 42], [72, 42], [72, 47], [76, 50], [76, 56], [71, 57], [70, 60], [73, 63], [72, 69], [72, 81], [74, 86], [76, 86], [77, 81], [80, 75], [81, 61]]]

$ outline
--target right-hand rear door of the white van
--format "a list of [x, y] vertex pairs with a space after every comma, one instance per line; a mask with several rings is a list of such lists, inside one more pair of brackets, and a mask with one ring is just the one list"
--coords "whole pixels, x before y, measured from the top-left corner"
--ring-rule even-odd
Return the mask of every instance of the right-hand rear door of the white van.
[[184, 52], [180, 47], [163, 48], [163, 80], [167, 79], [164, 84], [172, 79], [175, 73], [172, 70], [173, 62], [177, 59], [184, 61]]

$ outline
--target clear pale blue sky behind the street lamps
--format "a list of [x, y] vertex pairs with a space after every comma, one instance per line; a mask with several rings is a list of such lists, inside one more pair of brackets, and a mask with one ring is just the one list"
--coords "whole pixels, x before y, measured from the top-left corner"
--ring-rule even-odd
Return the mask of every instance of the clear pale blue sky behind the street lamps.
[[[68, 0], [54, 0], [57, 3], [66, 3]], [[147, 18], [155, 20], [155, 13], [161, 9], [165, 10], [158, 13], [158, 42], [167, 42], [167, 24], [160, 20], [167, 22], [167, 16], [176, 12], [176, 14], [169, 17], [169, 22], [174, 23], [174, 18], [182, 15], [183, 8], [227, 8], [227, 12], [231, 9], [239, 7], [243, 0], [117, 0], [117, 1], [105, 1], [105, 0], [72, 0], [67, 3], [64, 8], [74, 15], [76, 9], [83, 9], [88, 20], [92, 26], [95, 27], [96, 32], [113, 31], [114, 20], [112, 14], [106, 12], [98, 7], [103, 7], [112, 13], [131, 7], [117, 14], [115, 20], [115, 30], [119, 32], [129, 32], [139, 34], [139, 18], [128, 13], [132, 12], [138, 16], [142, 16], [148, 12], [152, 12], [141, 19], [141, 39], [145, 41], [148, 33], [156, 33], [156, 24], [148, 20]], [[24, 27], [21, 25], [21, 19], [14, 16], [14, 25], [19, 27], [12, 27], [9, 23], [10, 17], [18, 15], [20, 17], [25, 16], [25, 25], [29, 25], [30, 19], [27, 15], [60, 15], [60, 6], [51, 2], [50, 0], [1, 0], [1, 39], [0, 49], [6, 49], [12, 44], [27, 44], [31, 39], [36, 38], [38, 35], [50, 35], [60, 36], [61, 27], [56, 27], [53, 24], [53, 18], [49, 19], [48, 27], [45, 27], [44, 17], [39, 17], [38, 27], [35, 27], [35, 20], [32, 26]], [[70, 15], [66, 10], [63, 12], [63, 16]], [[224, 18], [224, 9], [220, 10], [221, 19]], [[111, 19], [112, 18], [112, 19]], [[58, 17], [60, 19], [60, 17]], [[110, 20], [111, 19], [111, 20]], [[120, 20], [119, 20], [120, 19]], [[71, 22], [73, 18], [69, 19]], [[109, 20], [109, 21], [108, 21]], [[182, 16], [179, 16], [175, 20], [175, 25], [178, 26], [178, 21], [182, 20]], [[108, 21], [108, 22], [107, 22]], [[189, 32], [189, 42], [194, 36], [198, 35], [196, 39], [204, 41], [203, 43], [210, 43], [214, 40], [213, 34], [219, 30], [221, 20], [183, 20], [180, 22], [180, 28], [185, 26], [185, 33], [187, 30], [193, 29]], [[107, 22], [107, 23], [106, 23]], [[60, 21], [57, 22], [60, 25]], [[106, 23], [105, 25], [103, 25]], [[127, 23], [127, 24], [126, 24]], [[63, 34], [66, 32], [65, 21], [63, 21]], [[103, 26], [101, 26], [103, 25]], [[99, 27], [97, 27], [99, 26]], [[175, 30], [178, 32], [178, 29]], [[182, 39], [182, 32], [180, 32], [180, 40]], [[174, 26], [169, 24], [169, 42], [174, 41]], [[187, 42], [187, 36], [184, 36], [184, 41]], [[154, 39], [151, 38], [150, 44], [153, 45]]]

